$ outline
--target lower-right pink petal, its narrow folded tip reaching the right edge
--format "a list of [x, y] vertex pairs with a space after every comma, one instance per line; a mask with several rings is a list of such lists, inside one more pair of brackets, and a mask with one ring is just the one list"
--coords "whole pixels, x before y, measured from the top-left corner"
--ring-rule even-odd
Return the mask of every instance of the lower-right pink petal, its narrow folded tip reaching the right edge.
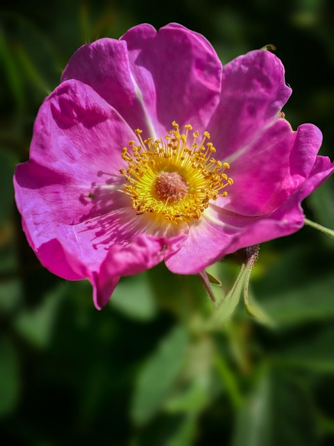
[[334, 171], [327, 157], [317, 157], [305, 183], [274, 213], [248, 217], [211, 205], [190, 227], [186, 244], [166, 259], [166, 266], [178, 274], [195, 274], [226, 254], [298, 231], [304, 222], [301, 201]]

